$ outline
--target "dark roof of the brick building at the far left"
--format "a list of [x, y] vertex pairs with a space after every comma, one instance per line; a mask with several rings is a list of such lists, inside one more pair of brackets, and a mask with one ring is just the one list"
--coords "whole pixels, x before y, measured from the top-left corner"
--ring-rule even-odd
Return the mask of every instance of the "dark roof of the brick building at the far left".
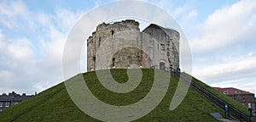
[[3, 95], [0, 95], [0, 102], [21, 102], [29, 97], [32, 97], [32, 95], [26, 96], [24, 93], [20, 95], [15, 92], [11, 92], [9, 95], [3, 93]]

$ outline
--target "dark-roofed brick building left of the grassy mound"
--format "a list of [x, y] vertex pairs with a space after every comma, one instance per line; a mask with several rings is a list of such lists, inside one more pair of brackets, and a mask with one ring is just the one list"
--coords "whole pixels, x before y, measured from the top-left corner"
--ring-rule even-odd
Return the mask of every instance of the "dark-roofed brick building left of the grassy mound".
[[5, 109], [5, 108], [12, 107], [15, 104], [18, 104], [18, 103], [26, 100], [29, 97], [32, 97], [32, 95], [26, 96], [25, 93], [20, 95], [15, 92], [11, 92], [8, 95], [6, 93], [3, 93], [3, 95], [0, 95], [0, 112], [3, 111], [3, 109]]

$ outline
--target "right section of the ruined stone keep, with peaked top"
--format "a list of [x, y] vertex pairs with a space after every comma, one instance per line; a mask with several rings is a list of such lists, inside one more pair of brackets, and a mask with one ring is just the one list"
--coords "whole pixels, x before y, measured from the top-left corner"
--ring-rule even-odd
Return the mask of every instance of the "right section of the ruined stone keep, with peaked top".
[[179, 68], [179, 33], [177, 31], [162, 28], [159, 25], [149, 25], [143, 33], [156, 41], [152, 44], [154, 65], [160, 65], [160, 62], [163, 62], [168, 68]]

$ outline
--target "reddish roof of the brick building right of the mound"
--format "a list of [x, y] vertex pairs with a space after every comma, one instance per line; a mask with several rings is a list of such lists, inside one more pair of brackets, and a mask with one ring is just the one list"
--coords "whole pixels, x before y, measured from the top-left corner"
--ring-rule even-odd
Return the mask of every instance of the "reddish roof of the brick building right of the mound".
[[[234, 94], [253, 94], [251, 92], [246, 92], [234, 87], [227, 87], [227, 88], [220, 88], [220, 87], [213, 87], [218, 92], [222, 92], [225, 95], [234, 95]], [[253, 94], [254, 95], [254, 94]]]

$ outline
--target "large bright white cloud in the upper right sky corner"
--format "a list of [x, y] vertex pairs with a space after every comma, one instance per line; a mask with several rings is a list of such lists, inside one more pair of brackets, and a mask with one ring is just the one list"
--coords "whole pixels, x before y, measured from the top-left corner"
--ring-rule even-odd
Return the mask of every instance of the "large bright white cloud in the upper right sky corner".
[[253, 0], [216, 10], [195, 33], [190, 43], [192, 50], [201, 53], [255, 39], [255, 10], [256, 1]]

